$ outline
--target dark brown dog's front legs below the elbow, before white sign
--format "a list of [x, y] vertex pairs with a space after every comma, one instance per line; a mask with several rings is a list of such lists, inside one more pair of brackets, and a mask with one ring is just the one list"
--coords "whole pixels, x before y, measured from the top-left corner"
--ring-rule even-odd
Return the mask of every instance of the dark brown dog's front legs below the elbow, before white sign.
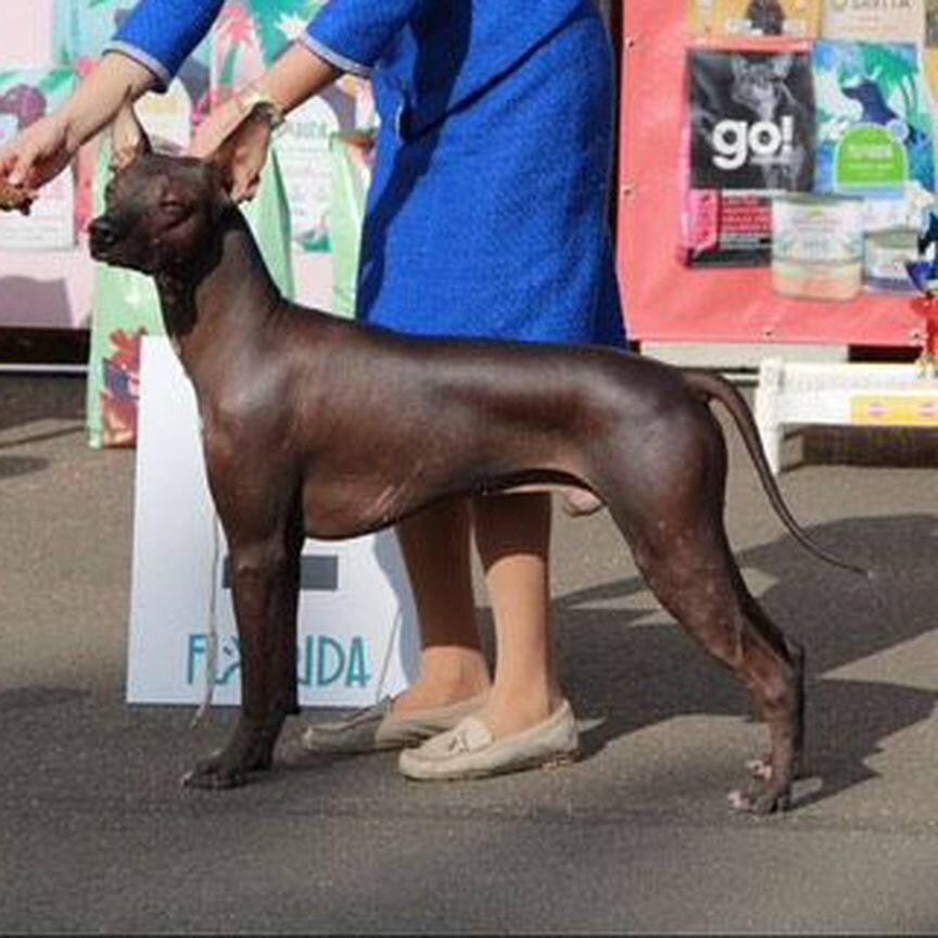
[[228, 745], [183, 777], [197, 788], [231, 788], [269, 769], [286, 718], [297, 710], [296, 608], [302, 535], [231, 545], [241, 650], [241, 713]]

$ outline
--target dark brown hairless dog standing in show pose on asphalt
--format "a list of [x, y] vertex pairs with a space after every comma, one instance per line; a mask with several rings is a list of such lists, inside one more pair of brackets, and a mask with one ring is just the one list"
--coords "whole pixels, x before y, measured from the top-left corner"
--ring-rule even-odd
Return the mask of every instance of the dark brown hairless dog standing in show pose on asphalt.
[[[129, 115], [124, 121], [129, 122]], [[802, 748], [801, 649], [743, 581], [723, 527], [733, 415], [788, 514], [745, 401], [725, 381], [625, 352], [403, 338], [286, 301], [211, 162], [154, 155], [124, 123], [91, 252], [152, 275], [195, 388], [212, 495], [233, 570], [242, 706], [186, 776], [224, 788], [268, 769], [297, 710], [296, 603], [306, 535], [376, 531], [426, 506], [530, 483], [592, 490], [661, 604], [750, 689], [770, 730], [763, 790], [785, 808]], [[127, 130], [127, 127], [130, 130]]]

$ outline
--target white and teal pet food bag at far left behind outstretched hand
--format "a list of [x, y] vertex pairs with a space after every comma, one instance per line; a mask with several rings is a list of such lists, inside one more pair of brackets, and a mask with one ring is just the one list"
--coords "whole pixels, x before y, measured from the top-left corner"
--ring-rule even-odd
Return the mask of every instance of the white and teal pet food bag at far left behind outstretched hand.
[[[72, 93], [71, 68], [0, 73], [0, 147]], [[75, 180], [71, 169], [42, 190], [29, 215], [0, 214], [0, 250], [51, 251], [75, 244]]]

